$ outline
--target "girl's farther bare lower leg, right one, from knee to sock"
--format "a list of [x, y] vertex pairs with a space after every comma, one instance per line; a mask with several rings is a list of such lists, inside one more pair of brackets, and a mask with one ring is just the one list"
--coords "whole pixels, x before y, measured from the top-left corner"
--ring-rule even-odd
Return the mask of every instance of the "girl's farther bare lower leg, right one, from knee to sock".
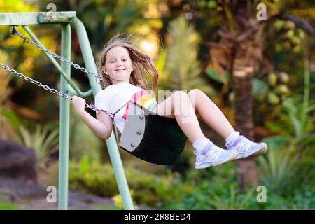
[[235, 132], [222, 111], [204, 94], [201, 90], [190, 90], [188, 93], [190, 102], [193, 104], [196, 113], [199, 113], [204, 123], [213, 128], [223, 139]]

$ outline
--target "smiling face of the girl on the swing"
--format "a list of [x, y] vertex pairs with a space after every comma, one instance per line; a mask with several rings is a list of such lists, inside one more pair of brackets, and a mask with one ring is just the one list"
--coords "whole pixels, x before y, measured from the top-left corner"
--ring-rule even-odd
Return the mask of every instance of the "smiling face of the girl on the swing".
[[134, 71], [129, 52], [123, 47], [111, 48], [106, 53], [106, 62], [103, 67], [113, 84], [129, 83], [130, 74]]

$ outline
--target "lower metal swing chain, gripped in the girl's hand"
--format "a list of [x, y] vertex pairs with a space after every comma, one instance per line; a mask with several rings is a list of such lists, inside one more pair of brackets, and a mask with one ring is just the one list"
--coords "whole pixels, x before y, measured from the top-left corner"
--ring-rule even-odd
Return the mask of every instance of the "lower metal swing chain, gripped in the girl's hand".
[[[53, 88], [50, 88], [48, 85], [43, 85], [41, 82], [39, 81], [36, 81], [28, 76], [25, 76], [23, 73], [20, 73], [18, 71], [16, 71], [15, 69], [10, 69], [10, 67], [4, 65], [4, 64], [1, 64], [0, 63], [0, 67], [5, 69], [6, 71], [10, 71], [10, 73], [13, 73], [15, 75], [17, 75], [18, 77], [20, 78], [24, 78], [25, 80], [31, 82], [31, 83], [34, 83], [35, 85], [39, 86], [39, 87], [42, 87], [44, 90], [49, 90], [50, 92], [52, 93], [55, 93], [55, 94], [58, 94], [60, 97], [64, 97], [66, 99], [69, 99], [69, 100], [73, 100], [73, 97], [69, 97], [69, 95], [67, 94], [64, 94], [62, 92], [59, 92], [58, 90], [55, 90]], [[99, 112], [102, 112], [102, 113], [106, 113], [107, 115], [111, 116], [111, 118], [113, 118], [115, 115], [113, 113], [109, 113], [108, 111], [104, 111], [102, 109], [97, 109], [94, 105], [92, 104], [87, 104], [85, 103], [85, 106], [87, 108], [90, 108], [92, 109], [93, 111], [99, 111]]]

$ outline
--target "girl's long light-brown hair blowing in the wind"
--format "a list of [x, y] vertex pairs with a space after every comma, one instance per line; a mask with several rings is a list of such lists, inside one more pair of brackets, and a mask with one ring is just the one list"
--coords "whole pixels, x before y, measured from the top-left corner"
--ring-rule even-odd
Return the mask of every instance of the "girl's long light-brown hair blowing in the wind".
[[154, 91], [156, 83], [158, 83], [158, 71], [155, 69], [152, 59], [143, 52], [140, 52], [132, 41], [130, 41], [130, 37], [131, 35], [125, 37], [125, 34], [116, 34], [104, 45], [104, 50], [102, 51], [97, 67], [99, 75], [102, 76], [104, 87], [106, 88], [113, 84], [109, 75], [106, 75], [103, 71], [106, 62], [106, 54], [112, 48], [123, 47], [128, 50], [132, 65], [134, 66], [134, 71], [130, 74], [130, 83], [132, 85], [140, 85], [141, 88], [147, 90], [148, 80], [144, 77], [146, 71], [153, 78], [152, 90]]

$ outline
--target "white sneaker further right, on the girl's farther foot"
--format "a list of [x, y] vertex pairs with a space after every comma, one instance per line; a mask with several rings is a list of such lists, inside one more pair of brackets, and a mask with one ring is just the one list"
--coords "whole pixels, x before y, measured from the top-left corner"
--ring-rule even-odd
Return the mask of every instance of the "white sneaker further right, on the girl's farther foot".
[[233, 145], [225, 144], [225, 146], [228, 147], [229, 151], [238, 151], [239, 155], [237, 156], [236, 160], [262, 155], [263, 153], [266, 153], [268, 149], [267, 144], [264, 142], [256, 143], [247, 139], [243, 135], [238, 137]]

